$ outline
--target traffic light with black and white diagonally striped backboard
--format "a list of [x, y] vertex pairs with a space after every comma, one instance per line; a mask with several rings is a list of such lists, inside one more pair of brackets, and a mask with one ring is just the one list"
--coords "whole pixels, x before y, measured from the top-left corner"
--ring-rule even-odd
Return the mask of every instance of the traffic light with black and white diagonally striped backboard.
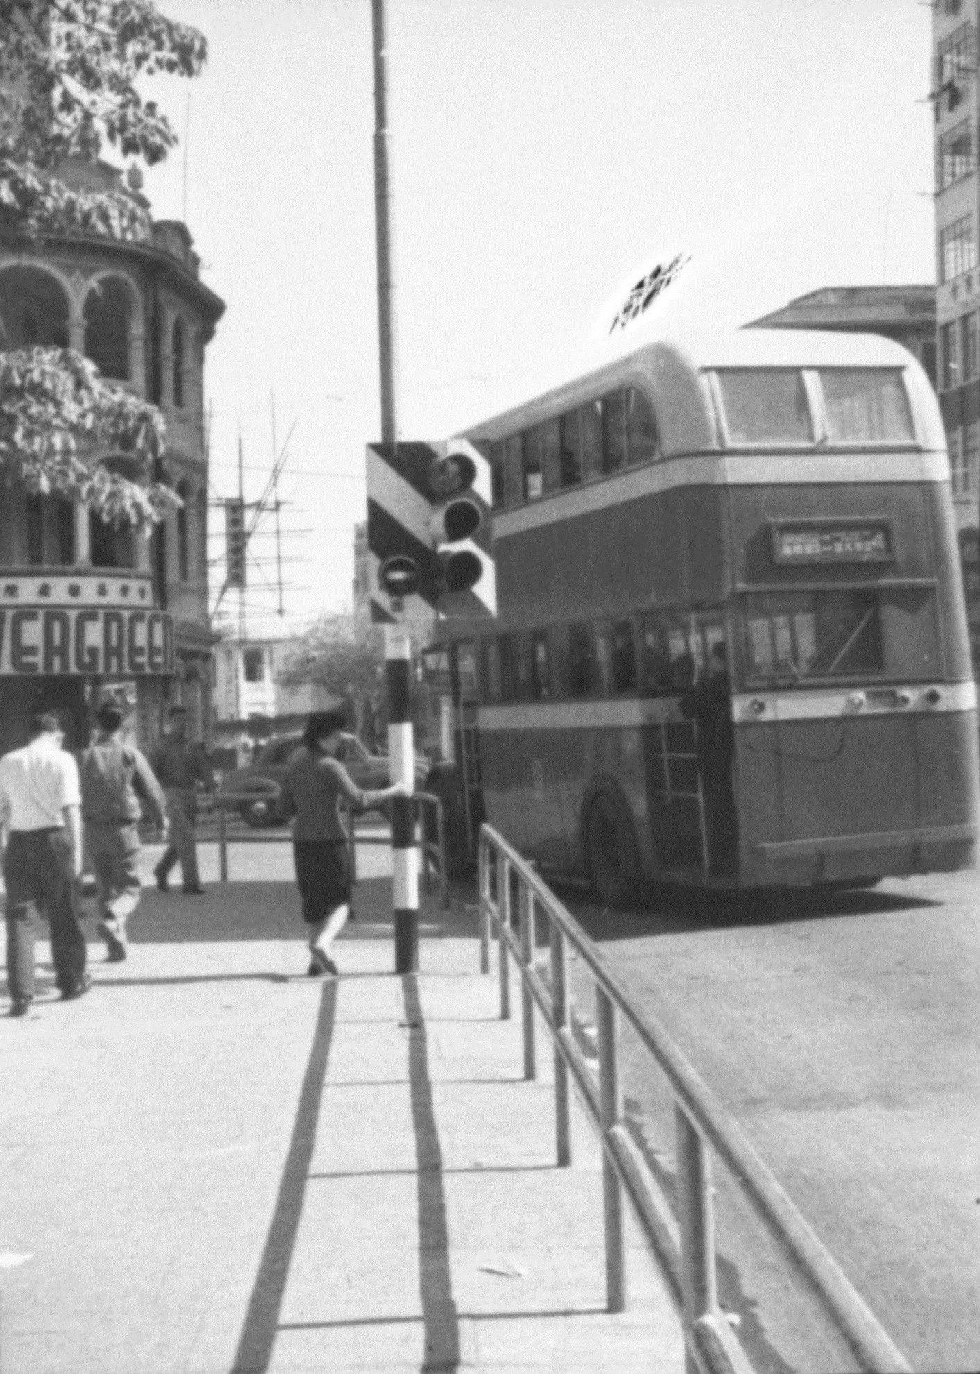
[[415, 595], [439, 614], [495, 616], [486, 458], [467, 440], [368, 444], [365, 456], [372, 618], [397, 620], [404, 598], [383, 574], [412, 565]]

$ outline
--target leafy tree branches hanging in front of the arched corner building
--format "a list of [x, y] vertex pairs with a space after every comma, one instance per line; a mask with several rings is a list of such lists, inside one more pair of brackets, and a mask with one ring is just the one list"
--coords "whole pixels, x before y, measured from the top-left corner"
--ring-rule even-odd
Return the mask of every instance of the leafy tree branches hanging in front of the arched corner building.
[[[145, 238], [139, 199], [73, 190], [65, 169], [93, 161], [106, 143], [148, 165], [165, 158], [176, 133], [137, 81], [196, 76], [206, 55], [203, 36], [151, 0], [0, 0], [0, 234]], [[29, 491], [82, 500], [139, 528], [162, 514], [170, 493], [91, 470], [84, 455], [110, 445], [145, 469], [163, 438], [154, 407], [103, 383], [77, 353], [0, 353], [0, 467]]]

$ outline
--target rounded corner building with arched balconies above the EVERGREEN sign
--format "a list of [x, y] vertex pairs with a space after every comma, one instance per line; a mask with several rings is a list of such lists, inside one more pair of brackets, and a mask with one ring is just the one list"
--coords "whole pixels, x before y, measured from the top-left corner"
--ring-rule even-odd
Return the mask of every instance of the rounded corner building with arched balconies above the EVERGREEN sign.
[[[122, 188], [106, 164], [60, 174], [75, 190]], [[128, 180], [126, 194], [147, 207], [139, 173]], [[70, 746], [81, 747], [107, 695], [133, 710], [144, 745], [174, 703], [187, 706], [198, 738], [210, 735], [203, 365], [224, 302], [199, 265], [187, 227], [173, 220], [152, 223], [139, 243], [0, 235], [0, 348], [75, 349], [110, 385], [158, 405], [167, 444], [145, 475], [183, 502], [137, 536], [0, 471], [0, 753], [22, 745], [33, 714], [49, 708], [70, 720]], [[89, 460], [140, 475], [110, 449]]]

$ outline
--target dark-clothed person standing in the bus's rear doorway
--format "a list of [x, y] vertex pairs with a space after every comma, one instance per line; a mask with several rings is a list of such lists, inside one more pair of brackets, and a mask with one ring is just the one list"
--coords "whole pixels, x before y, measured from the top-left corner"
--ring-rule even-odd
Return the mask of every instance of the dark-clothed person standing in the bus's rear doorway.
[[682, 694], [679, 706], [686, 720], [697, 721], [708, 868], [716, 878], [732, 877], [738, 867], [738, 829], [732, 782], [732, 680], [725, 644], [711, 647], [707, 673]]

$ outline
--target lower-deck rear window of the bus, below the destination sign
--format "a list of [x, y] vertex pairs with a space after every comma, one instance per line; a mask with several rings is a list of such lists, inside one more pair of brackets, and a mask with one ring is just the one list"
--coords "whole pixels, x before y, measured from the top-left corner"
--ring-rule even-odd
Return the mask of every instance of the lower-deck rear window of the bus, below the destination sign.
[[747, 610], [751, 677], [830, 677], [884, 669], [876, 592], [749, 596]]

